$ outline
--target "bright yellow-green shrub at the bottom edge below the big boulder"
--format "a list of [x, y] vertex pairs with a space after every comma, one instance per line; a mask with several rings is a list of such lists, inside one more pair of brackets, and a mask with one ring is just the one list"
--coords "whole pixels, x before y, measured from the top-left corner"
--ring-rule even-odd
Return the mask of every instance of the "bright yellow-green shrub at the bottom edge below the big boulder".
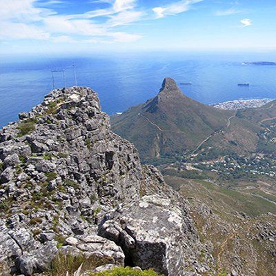
[[158, 274], [151, 269], [141, 271], [130, 267], [116, 267], [100, 273], [90, 273], [90, 276], [158, 276]]

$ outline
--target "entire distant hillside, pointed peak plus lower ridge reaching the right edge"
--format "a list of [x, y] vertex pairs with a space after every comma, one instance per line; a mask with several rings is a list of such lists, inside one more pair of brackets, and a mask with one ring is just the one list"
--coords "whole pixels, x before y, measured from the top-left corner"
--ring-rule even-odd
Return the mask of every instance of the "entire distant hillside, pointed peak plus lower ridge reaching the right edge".
[[155, 98], [113, 117], [112, 130], [132, 141], [144, 161], [199, 151], [211, 157], [247, 154], [259, 148], [262, 120], [276, 117], [274, 102], [262, 108], [219, 110], [190, 99], [166, 78]]

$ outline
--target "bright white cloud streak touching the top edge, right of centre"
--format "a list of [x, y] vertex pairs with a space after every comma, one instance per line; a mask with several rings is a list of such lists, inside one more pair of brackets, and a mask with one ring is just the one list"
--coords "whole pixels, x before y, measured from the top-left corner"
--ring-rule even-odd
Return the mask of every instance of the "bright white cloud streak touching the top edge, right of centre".
[[165, 17], [166, 15], [175, 15], [181, 12], [186, 12], [190, 10], [193, 4], [199, 3], [203, 0], [182, 0], [175, 3], [171, 3], [168, 6], [164, 7], [155, 7], [152, 8], [152, 11], [155, 12], [157, 19]]

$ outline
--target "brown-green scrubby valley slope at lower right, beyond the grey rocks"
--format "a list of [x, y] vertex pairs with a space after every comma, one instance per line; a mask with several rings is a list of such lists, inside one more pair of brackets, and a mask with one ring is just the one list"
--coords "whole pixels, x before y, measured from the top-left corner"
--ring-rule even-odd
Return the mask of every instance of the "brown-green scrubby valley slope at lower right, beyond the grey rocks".
[[220, 273], [273, 275], [275, 186], [262, 181], [219, 184], [169, 175], [165, 180], [188, 201], [199, 238], [208, 244]]

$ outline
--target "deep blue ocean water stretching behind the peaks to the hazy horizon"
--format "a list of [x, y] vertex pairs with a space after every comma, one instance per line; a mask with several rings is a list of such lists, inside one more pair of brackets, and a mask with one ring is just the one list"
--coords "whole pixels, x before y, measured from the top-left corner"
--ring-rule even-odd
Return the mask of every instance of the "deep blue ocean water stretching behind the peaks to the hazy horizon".
[[[112, 55], [95, 57], [22, 58], [0, 63], [0, 127], [17, 120], [52, 89], [50, 70], [66, 69], [66, 84], [97, 91], [102, 110], [123, 112], [155, 97], [164, 77], [172, 77], [181, 90], [202, 103], [234, 99], [276, 98], [276, 66], [244, 66], [243, 61], [275, 61], [276, 55]], [[63, 87], [61, 73], [56, 86]], [[180, 83], [191, 82], [191, 86]], [[237, 83], [250, 83], [238, 87]]]

